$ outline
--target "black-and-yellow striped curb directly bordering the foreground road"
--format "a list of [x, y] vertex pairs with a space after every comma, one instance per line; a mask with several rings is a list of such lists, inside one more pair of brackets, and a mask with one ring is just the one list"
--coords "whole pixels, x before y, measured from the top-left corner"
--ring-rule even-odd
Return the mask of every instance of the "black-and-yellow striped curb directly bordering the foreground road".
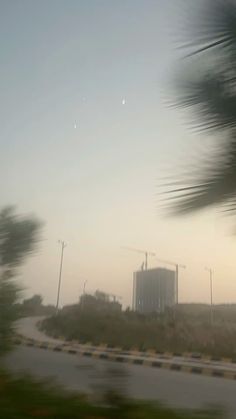
[[[51, 350], [54, 352], [64, 352], [71, 355], [80, 355], [85, 357], [97, 358], [101, 360], [128, 363], [133, 365], [143, 365], [152, 368], [163, 368], [171, 371], [180, 371], [185, 373], [191, 373], [195, 375], [207, 375], [211, 377], [225, 378], [230, 380], [236, 380], [236, 371], [224, 370], [223, 368], [211, 367], [211, 366], [188, 366], [181, 365], [177, 362], [172, 362], [171, 358], [153, 360], [148, 357], [141, 357], [137, 355], [137, 352], [132, 354], [131, 352], [111, 352], [105, 348], [93, 347], [91, 349], [79, 349], [70, 346], [68, 343], [58, 344], [53, 342], [37, 341], [35, 339], [29, 339], [22, 336], [14, 338], [13, 343], [16, 345], [24, 345], [29, 347], [36, 347], [39, 349]], [[132, 357], [132, 358], [131, 358]], [[199, 359], [199, 360], [203, 360]], [[209, 358], [207, 359], [209, 361]]]

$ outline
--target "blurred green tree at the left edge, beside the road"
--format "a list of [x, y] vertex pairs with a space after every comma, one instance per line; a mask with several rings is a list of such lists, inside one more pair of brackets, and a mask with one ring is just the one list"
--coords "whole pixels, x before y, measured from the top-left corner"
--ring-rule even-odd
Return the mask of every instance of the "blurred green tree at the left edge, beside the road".
[[13, 278], [17, 268], [35, 250], [40, 227], [39, 220], [17, 215], [14, 207], [0, 212], [0, 354], [9, 348], [17, 317], [14, 303], [20, 288]]

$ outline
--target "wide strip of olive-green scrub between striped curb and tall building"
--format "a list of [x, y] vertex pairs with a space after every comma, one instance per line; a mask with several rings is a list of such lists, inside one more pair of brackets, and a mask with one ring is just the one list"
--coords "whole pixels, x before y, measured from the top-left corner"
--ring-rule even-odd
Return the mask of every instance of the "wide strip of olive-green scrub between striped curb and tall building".
[[[175, 314], [175, 317], [174, 317]], [[67, 340], [124, 349], [137, 348], [157, 352], [200, 352], [236, 360], [236, 305], [215, 306], [214, 324], [210, 324], [207, 305], [179, 305], [175, 312], [141, 315], [80, 304], [64, 307], [57, 316], [45, 319], [42, 328]]]

